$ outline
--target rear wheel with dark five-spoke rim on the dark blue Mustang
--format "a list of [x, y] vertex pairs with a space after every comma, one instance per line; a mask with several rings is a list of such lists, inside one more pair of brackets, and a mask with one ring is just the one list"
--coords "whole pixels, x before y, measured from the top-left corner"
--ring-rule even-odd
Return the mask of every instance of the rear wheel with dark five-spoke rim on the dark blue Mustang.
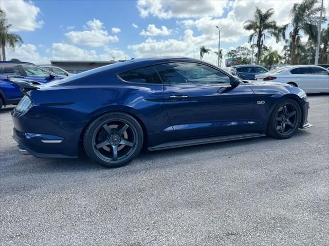
[[90, 122], [83, 145], [89, 158], [99, 165], [118, 168], [137, 157], [143, 146], [143, 131], [128, 114], [106, 113]]

